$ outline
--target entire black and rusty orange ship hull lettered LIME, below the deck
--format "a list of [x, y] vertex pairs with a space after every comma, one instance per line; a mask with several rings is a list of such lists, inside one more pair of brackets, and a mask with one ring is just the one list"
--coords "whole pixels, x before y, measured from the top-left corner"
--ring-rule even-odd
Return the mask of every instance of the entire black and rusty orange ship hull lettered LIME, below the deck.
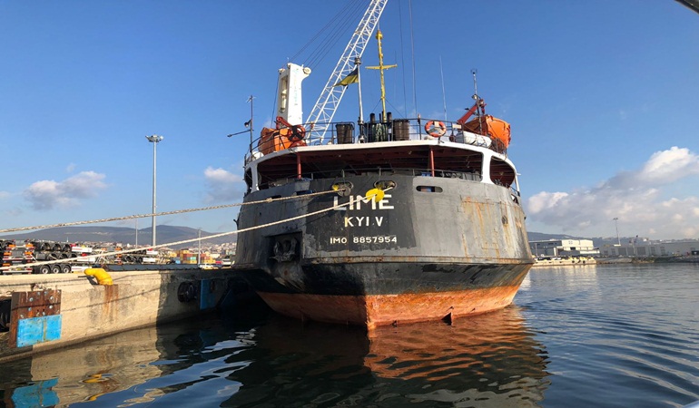
[[[394, 187], [384, 199], [361, 199], [387, 180]], [[246, 200], [312, 195], [333, 183], [299, 180]], [[273, 310], [371, 329], [453, 321], [512, 302], [533, 260], [524, 214], [508, 189], [399, 174], [342, 183], [353, 191], [241, 209], [244, 229], [294, 219], [238, 238], [236, 268]]]

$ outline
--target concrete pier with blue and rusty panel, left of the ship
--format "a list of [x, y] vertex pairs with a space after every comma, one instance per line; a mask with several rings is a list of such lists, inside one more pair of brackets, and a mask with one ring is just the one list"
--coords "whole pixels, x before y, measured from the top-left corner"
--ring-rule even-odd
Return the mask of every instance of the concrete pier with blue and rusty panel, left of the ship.
[[231, 269], [108, 272], [113, 285], [83, 274], [0, 277], [0, 361], [137, 327], [235, 306], [251, 296]]

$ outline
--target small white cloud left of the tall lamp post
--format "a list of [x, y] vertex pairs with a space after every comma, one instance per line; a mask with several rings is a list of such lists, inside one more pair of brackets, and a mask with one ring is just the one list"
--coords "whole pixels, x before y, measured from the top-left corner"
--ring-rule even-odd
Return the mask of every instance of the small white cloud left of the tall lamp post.
[[81, 199], [90, 199], [105, 189], [104, 175], [83, 171], [63, 181], [40, 180], [29, 186], [23, 195], [34, 209], [73, 208]]

